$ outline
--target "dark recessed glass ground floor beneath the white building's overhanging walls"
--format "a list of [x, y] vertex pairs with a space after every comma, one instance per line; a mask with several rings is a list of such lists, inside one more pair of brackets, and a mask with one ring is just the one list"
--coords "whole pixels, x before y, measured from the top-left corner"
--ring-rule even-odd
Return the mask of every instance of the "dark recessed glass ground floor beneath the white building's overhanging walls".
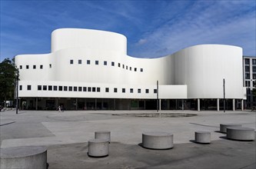
[[242, 110], [241, 99], [19, 98], [20, 110]]

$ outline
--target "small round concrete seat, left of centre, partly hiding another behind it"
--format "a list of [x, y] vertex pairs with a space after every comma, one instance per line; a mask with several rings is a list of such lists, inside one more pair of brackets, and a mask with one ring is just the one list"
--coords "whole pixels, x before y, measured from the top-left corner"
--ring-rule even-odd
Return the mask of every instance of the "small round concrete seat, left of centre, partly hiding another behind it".
[[89, 157], [106, 157], [108, 156], [108, 140], [107, 139], [92, 139], [88, 141], [88, 156]]

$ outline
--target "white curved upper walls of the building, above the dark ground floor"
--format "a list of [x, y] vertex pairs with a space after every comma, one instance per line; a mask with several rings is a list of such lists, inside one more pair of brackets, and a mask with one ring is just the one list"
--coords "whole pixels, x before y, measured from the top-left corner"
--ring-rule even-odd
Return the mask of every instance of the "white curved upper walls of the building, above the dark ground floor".
[[[32, 91], [20, 91], [21, 97], [156, 98], [153, 91], [159, 81], [159, 98], [223, 98], [225, 78], [226, 98], [244, 98], [242, 49], [230, 45], [196, 45], [162, 58], [132, 58], [126, 54], [123, 35], [62, 28], [52, 32], [51, 54], [17, 55], [15, 63], [18, 68], [23, 67], [21, 84], [35, 86]], [[37, 85], [74, 84], [94, 85], [101, 92], [37, 91]], [[108, 93], [106, 87], [110, 88]], [[113, 88], [118, 88], [118, 94]], [[126, 88], [125, 93], [122, 88]], [[130, 88], [141, 88], [141, 94], [129, 93]], [[149, 94], [145, 94], [145, 89], [150, 89]]]

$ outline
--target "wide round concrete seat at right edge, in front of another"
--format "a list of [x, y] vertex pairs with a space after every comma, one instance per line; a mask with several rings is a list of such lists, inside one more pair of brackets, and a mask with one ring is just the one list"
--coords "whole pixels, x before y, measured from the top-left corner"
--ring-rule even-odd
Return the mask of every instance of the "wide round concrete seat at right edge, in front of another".
[[227, 128], [227, 138], [237, 141], [254, 141], [254, 128]]

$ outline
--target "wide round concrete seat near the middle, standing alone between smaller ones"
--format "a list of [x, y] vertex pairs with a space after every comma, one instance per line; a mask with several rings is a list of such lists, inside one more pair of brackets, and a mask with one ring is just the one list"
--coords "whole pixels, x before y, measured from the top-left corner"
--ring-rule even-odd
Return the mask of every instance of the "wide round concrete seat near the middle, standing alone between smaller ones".
[[145, 132], [142, 134], [142, 147], [165, 150], [173, 146], [173, 134], [171, 133]]

